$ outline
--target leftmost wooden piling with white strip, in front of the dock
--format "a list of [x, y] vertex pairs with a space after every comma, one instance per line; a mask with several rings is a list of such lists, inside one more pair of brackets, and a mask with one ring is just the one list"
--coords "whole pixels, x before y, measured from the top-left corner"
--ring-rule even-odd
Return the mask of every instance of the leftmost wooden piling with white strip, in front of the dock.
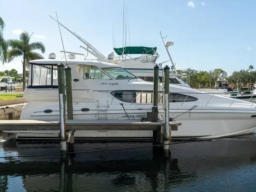
[[59, 90], [59, 104], [60, 104], [60, 151], [66, 152], [66, 96], [65, 96], [65, 66], [60, 63], [57, 65], [58, 69], [58, 90]]

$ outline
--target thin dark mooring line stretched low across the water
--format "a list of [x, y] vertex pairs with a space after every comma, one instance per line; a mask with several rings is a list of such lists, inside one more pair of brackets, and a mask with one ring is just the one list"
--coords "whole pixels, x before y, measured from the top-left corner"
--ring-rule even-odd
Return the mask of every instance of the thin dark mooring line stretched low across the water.
[[[234, 138], [238, 136], [246, 136], [246, 135], [254, 135], [256, 133], [248, 133], [243, 135], [234, 135], [216, 139], [223, 139], [223, 138]], [[18, 158], [18, 157], [35, 157], [35, 156], [49, 156], [49, 155], [70, 155], [70, 154], [79, 154], [79, 153], [91, 153], [91, 152], [104, 152], [104, 151], [116, 151], [116, 150], [126, 150], [126, 149], [137, 149], [137, 148], [146, 148], [146, 147], [157, 147], [157, 146], [164, 146], [164, 145], [175, 145], [175, 144], [183, 144], [183, 143], [192, 143], [192, 142], [202, 142], [202, 141], [210, 141], [216, 139], [202, 139], [202, 140], [193, 140], [193, 141], [184, 141], [184, 142], [176, 142], [170, 144], [156, 144], [156, 145], [146, 145], [146, 146], [136, 146], [136, 147], [125, 147], [125, 148], [114, 148], [114, 149], [103, 149], [103, 150], [90, 150], [90, 151], [78, 151], [78, 152], [66, 152], [66, 153], [50, 153], [50, 154], [36, 154], [36, 155], [22, 155], [22, 156], [2, 156], [2, 158]]]

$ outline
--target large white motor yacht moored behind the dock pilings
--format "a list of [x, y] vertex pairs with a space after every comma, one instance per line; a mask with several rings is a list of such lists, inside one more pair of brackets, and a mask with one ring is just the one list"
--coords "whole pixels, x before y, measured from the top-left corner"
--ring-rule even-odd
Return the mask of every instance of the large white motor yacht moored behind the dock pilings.
[[[78, 60], [74, 55], [56, 59], [50, 54], [48, 59], [30, 61], [28, 86], [23, 93], [28, 102], [21, 120], [59, 120], [59, 63], [72, 69], [74, 119], [140, 120], [151, 111], [153, 82], [109, 62]], [[158, 113], [163, 118], [162, 90], [160, 83]], [[220, 138], [256, 129], [256, 104], [175, 84], [170, 84], [169, 116], [182, 123], [178, 131], [172, 131], [172, 140]], [[60, 131], [6, 132], [16, 133], [17, 140], [59, 140]], [[151, 140], [152, 131], [78, 130], [74, 136], [84, 141]]]

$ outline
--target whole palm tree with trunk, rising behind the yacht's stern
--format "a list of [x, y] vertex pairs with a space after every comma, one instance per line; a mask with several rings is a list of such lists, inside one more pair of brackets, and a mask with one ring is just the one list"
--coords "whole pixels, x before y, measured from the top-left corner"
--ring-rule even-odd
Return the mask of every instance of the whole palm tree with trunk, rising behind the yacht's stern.
[[34, 52], [34, 50], [40, 50], [43, 54], [45, 53], [45, 47], [42, 42], [29, 43], [31, 36], [24, 31], [20, 34], [20, 39], [7, 41], [8, 46], [11, 48], [7, 52], [8, 63], [18, 56], [23, 56], [23, 90], [26, 88], [26, 66], [29, 68], [29, 61], [43, 58], [41, 54]]

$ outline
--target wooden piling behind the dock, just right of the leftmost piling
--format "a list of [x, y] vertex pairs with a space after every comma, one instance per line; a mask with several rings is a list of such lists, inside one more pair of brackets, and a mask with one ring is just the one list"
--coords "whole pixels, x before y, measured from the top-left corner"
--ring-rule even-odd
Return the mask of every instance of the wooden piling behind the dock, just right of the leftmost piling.
[[[73, 120], [73, 98], [72, 98], [72, 76], [71, 68], [66, 66], [65, 68], [65, 79], [66, 79], [66, 97], [67, 97], [67, 112], [68, 120]], [[74, 152], [74, 131], [71, 132], [68, 142], [68, 152]]]

